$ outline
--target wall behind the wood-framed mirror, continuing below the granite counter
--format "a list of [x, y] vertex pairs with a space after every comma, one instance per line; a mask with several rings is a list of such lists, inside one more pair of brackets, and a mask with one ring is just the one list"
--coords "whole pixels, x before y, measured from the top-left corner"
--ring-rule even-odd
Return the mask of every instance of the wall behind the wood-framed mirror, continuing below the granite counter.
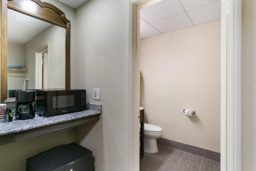
[[[67, 18], [71, 21], [71, 87], [74, 88], [74, 80], [76, 78], [74, 74], [74, 59], [76, 56], [75, 10], [56, 0], [47, 0], [47, 2], [54, 4], [65, 12]], [[86, 127], [86, 125], [84, 126]], [[51, 149], [56, 145], [75, 141], [76, 137], [69, 136], [71, 130], [73, 129], [66, 129], [0, 146], [0, 170], [25, 171], [27, 157], [34, 156], [46, 149]]]

